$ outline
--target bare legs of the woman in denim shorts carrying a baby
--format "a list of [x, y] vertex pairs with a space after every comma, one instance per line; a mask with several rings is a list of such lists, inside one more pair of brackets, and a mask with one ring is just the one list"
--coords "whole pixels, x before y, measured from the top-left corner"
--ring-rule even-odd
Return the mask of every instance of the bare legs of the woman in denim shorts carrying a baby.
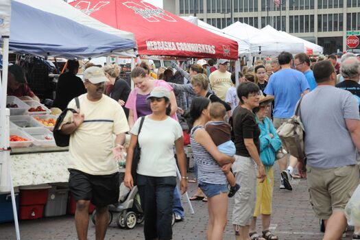
[[228, 193], [220, 193], [208, 198], [208, 208], [213, 216], [213, 226], [208, 240], [223, 239], [226, 222], [228, 221]]

